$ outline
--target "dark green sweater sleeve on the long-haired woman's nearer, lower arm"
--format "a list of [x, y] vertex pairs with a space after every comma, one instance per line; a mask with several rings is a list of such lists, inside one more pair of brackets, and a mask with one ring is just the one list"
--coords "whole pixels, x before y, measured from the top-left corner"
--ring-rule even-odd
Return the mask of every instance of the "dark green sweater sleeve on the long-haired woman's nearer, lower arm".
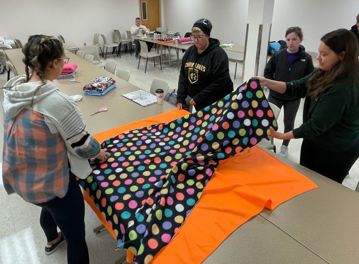
[[333, 84], [316, 100], [311, 99], [311, 116], [299, 128], [293, 130], [294, 137], [313, 139], [337, 124], [348, 107], [348, 95], [346, 87]]

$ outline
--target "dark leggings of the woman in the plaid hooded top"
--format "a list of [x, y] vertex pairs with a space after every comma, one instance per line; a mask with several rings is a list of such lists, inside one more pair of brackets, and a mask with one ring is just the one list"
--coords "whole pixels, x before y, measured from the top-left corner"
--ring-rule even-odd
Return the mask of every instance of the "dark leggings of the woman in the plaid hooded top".
[[47, 241], [58, 237], [60, 228], [67, 243], [68, 264], [88, 264], [88, 249], [85, 241], [85, 204], [79, 184], [70, 172], [68, 191], [63, 198], [35, 204], [42, 207], [40, 225]]

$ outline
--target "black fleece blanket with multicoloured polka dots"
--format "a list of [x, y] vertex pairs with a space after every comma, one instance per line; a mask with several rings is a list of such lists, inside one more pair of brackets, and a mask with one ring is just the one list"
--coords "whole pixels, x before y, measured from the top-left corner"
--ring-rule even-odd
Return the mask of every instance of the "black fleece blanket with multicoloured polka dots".
[[[80, 180], [118, 248], [147, 264], [179, 232], [218, 163], [256, 145], [277, 123], [258, 80], [177, 120], [105, 140], [110, 157]], [[97, 181], [93, 181], [96, 178]]]

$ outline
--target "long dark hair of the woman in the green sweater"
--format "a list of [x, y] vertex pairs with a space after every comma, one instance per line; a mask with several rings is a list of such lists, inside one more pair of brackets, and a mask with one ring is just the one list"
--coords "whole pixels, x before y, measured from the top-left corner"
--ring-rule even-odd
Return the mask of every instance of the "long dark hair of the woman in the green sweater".
[[325, 34], [321, 39], [336, 54], [344, 51], [343, 60], [339, 60], [329, 71], [319, 69], [307, 83], [307, 95], [317, 98], [331, 83], [348, 76], [359, 80], [358, 45], [353, 33], [347, 29], [337, 29]]

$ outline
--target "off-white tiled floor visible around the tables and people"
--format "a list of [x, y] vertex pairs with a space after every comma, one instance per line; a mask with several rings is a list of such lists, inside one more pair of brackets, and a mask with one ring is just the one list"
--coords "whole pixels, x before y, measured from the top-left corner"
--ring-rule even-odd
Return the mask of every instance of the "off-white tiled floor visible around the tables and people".
[[[168, 53], [167, 53], [168, 54]], [[180, 51], [180, 55], [181, 51]], [[147, 65], [147, 72], [144, 74], [145, 60], [141, 60], [140, 69], [137, 69], [138, 60], [134, 56], [123, 53], [122, 58], [108, 56], [108, 59], [117, 61], [117, 68], [125, 69], [130, 73], [129, 82], [141, 87], [141, 89], [149, 91], [153, 78], [163, 79], [168, 82], [170, 89], [177, 88], [179, 67], [169, 67], [168, 64], [162, 64], [162, 71], [158, 61], [156, 67], [153, 66], [153, 60]], [[175, 59], [175, 52], [172, 51], [172, 58]], [[235, 64], [230, 63], [230, 72], [232, 79], [234, 78]], [[237, 79], [234, 81], [235, 87], [240, 84], [241, 67], [237, 68]], [[6, 74], [0, 75], [0, 87], [6, 82]], [[268, 94], [268, 91], [266, 91]], [[2, 102], [3, 94], [0, 93], [0, 101]], [[303, 103], [301, 103], [295, 127], [301, 124], [301, 113], [303, 111]], [[2, 111], [0, 121], [3, 122]], [[282, 113], [278, 118], [279, 128], [283, 127]], [[280, 131], [279, 129], [279, 131]], [[0, 134], [3, 128], [0, 127]], [[275, 140], [277, 148], [280, 147], [279, 140]], [[301, 140], [291, 140], [289, 145], [289, 159], [299, 162]], [[2, 148], [3, 140], [0, 140], [0, 148]], [[2, 155], [0, 154], [0, 162]], [[1, 167], [1, 163], [0, 163]], [[1, 170], [0, 170], [1, 173]], [[359, 180], [359, 161], [357, 161], [350, 171], [350, 176], [345, 179], [344, 185], [355, 189]], [[0, 177], [1, 179], [1, 177]], [[62, 264], [66, 263], [66, 247], [62, 246], [58, 251], [50, 256], [44, 254], [45, 235], [43, 234], [39, 224], [40, 209], [34, 205], [24, 202], [16, 195], [7, 196], [5, 189], [0, 181], [0, 263], [2, 264]], [[123, 256], [123, 252], [116, 252], [116, 241], [108, 232], [100, 235], [92, 233], [92, 228], [96, 227], [100, 222], [96, 215], [92, 213], [89, 206], [86, 205], [85, 213], [86, 222], [86, 241], [90, 252], [91, 264], [109, 263], [113, 264], [116, 259]]]

